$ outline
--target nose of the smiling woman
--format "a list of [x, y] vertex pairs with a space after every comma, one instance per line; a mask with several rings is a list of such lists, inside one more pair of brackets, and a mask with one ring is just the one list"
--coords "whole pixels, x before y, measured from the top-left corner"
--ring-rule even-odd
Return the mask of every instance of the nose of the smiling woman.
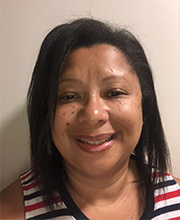
[[78, 122], [95, 126], [106, 123], [109, 119], [108, 108], [99, 97], [91, 97], [78, 112]]

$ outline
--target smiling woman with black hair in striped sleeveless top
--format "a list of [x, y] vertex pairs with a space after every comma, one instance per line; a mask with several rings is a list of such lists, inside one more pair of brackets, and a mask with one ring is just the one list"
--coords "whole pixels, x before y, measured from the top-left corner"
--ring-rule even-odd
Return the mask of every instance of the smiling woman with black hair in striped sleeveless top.
[[2, 192], [3, 219], [180, 218], [152, 73], [128, 31], [92, 19], [53, 29], [28, 117], [32, 169]]

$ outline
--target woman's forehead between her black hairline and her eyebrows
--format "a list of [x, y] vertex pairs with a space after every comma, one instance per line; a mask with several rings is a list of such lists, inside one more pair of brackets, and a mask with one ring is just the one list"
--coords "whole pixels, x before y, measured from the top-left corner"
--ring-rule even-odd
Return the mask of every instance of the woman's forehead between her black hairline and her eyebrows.
[[92, 47], [81, 47], [70, 52], [67, 56], [62, 73], [69, 69], [89, 68], [89, 69], [107, 69], [113, 68], [126, 69], [132, 71], [132, 67], [127, 62], [124, 54], [115, 46], [108, 44], [97, 44]]

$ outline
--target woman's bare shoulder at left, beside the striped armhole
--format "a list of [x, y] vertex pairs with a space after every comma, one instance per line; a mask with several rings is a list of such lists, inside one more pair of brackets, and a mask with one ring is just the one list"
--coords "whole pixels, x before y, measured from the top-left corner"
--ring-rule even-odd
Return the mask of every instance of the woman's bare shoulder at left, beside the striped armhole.
[[20, 179], [0, 192], [0, 216], [6, 220], [25, 219]]

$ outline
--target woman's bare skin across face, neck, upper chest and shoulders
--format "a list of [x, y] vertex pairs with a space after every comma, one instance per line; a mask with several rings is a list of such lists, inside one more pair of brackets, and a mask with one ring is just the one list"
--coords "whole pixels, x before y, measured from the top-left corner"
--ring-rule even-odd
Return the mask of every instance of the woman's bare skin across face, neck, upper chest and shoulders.
[[[135, 73], [112, 46], [75, 50], [63, 68], [52, 136], [64, 157], [67, 188], [91, 220], [139, 219], [143, 213], [143, 189], [130, 159], [142, 129], [141, 99]], [[105, 144], [77, 141], [97, 143], [114, 133]], [[19, 179], [0, 193], [0, 216], [25, 219]]]

